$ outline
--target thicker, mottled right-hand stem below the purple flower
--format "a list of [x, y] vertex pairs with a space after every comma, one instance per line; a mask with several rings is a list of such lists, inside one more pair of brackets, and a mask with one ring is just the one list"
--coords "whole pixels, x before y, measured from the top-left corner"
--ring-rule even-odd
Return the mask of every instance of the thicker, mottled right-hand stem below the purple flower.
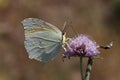
[[93, 58], [89, 57], [84, 80], [90, 80], [92, 64], [93, 64]]

